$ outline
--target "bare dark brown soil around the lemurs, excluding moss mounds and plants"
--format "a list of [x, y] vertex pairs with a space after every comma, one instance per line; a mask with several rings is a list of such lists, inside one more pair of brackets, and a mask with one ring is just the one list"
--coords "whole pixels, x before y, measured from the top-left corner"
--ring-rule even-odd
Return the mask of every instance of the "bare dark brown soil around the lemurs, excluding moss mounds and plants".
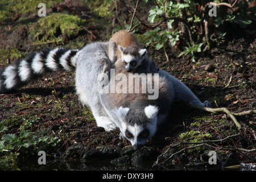
[[[76, 11], [79, 10], [72, 10], [71, 13]], [[93, 16], [93, 13], [88, 12], [88, 15]], [[21, 52], [19, 56], [12, 56], [9, 60], [2, 60], [1, 57], [0, 64], [2, 67], [28, 55], [32, 51], [56, 46], [55, 43], [31, 46], [32, 42], [30, 42], [27, 35], [28, 28], [31, 28], [37, 19], [30, 20], [32, 22], [30, 26], [26, 25], [26, 23], [17, 23], [15, 21], [1, 24], [0, 32], [2, 40], [4, 40], [1, 42], [1, 48], [10, 50], [13, 47]], [[88, 21], [93, 22], [90, 19]], [[8, 28], [10, 26], [13, 26], [11, 30]], [[64, 46], [72, 47], [72, 43], [77, 42], [79, 39], [84, 41], [84, 45], [91, 41], [108, 41], [109, 37], [103, 33], [104, 30], [97, 27], [97, 23], [94, 26], [88, 24], [86, 26], [87, 31], [80, 32], [75, 38], [67, 38]], [[107, 34], [111, 35], [111, 31], [107, 32]], [[147, 47], [147, 49], [150, 59], [160, 69], [179, 78], [180, 81], [191, 88], [201, 101], [210, 101], [212, 107], [227, 107], [233, 113], [255, 109], [255, 36], [250, 38], [229, 38], [220, 46], [216, 46], [210, 51], [199, 55], [200, 58], [195, 63], [189, 61], [189, 59], [174, 57], [171, 51], [167, 52], [170, 58], [170, 61], [167, 62], [163, 51], [155, 51], [152, 47]], [[226, 85], [228, 86], [225, 88]], [[57, 156], [61, 158], [82, 159], [85, 158], [85, 155], [88, 155], [86, 152], [95, 150], [96, 147], [113, 146], [129, 149], [127, 146], [130, 146], [129, 142], [119, 140], [119, 130], [106, 132], [101, 127], [97, 127], [90, 109], [82, 106], [76, 95], [75, 73], [52, 73], [35, 82], [31, 82], [22, 89], [0, 94], [1, 127], [7, 126], [8, 128], [6, 133], [0, 133], [0, 138], [7, 133], [18, 135], [20, 126], [24, 126], [24, 122], [31, 121], [32, 118], [34, 118], [34, 121], [32, 126], [27, 128], [28, 130], [38, 136], [60, 139], [56, 146], [46, 148], [49, 155], [57, 153]], [[240, 137], [230, 138], [222, 143], [212, 143], [214, 147], [220, 148], [222, 152], [218, 164], [225, 163], [226, 166], [229, 166], [240, 164], [245, 160], [254, 160], [255, 162], [256, 151], [246, 152], [236, 149], [251, 150], [253, 145], [255, 147], [256, 115], [247, 114], [237, 117], [237, 119], [242, 125], [241, 131], [237, 130], [232, 119], [226, 114], [211, 114], [191, 109], [181, 101], [175, 101], [166, 124], [159, 127], [158, 133], [148, 140], [146, 147], [156, 148], [156, 154], [160, 155], [170, 145], [179, 142], [218, 140], [240, 133]], [[199, 133], [189, 135], [190, 131], [198, 131]], [[188, 135], [185, 138], [181, 138], [181, 134]], [[221, 150], [221, 147], [229, 148]], [[181, 149], [175, 148], [171, 152]], [[188, 163], [208, 162], [208, 158], [205, 158], [203, 154], [210, 150], [213, 150], [213, 148], [201, 147], [197, 150], [184, 151], [182, 155], [177, 155], [173, 162], [167, 163], [165, 168], [181, 168]], [[120, 153], [118, 154], [111, 155], [110, 158], [124, 156]], [[167, 153], [166, 158], [170, 155]], [[100, 158], [100, 154], [97, 156]], [[233, 160], [229, 161], [230, 156], [233, 156]], [[26, 157], [23, 156], [22, 158]], [[156, 157], [151, 160], [154, 162]], [[151, 166], [153, 162], [151, 162]], [[174, 164], [176, 165], [175, 167], [173, 166]], [[163, 168], [156, 167], [154, 169]]]

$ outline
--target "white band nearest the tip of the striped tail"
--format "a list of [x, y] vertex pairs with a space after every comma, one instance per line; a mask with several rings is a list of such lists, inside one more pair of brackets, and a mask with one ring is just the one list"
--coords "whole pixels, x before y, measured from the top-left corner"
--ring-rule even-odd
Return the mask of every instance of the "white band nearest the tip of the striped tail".
[[12, 89], [15, 84], [16, 84], [16, 80], [15, 80], [15, 76], [16, 76], [16, 69], [13, 65], [10, 65], [9, 67], [7, 67], [5, 69], [5, 71], [3, 72], [3, 76], [6, 77], [4, 84], [6, 85], [7, 89]]

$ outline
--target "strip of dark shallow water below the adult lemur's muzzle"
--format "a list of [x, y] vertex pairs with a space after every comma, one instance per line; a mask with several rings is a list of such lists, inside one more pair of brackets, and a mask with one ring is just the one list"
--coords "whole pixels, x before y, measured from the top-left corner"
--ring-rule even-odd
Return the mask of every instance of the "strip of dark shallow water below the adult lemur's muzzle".
[[18, 168], [22, 171], [230, 171], [230, 170], [242, 170], [247, 169], [256, 170], [252, 168], [255, 164], [251, 164], [249, 168], [245, 168], [246, 165], [241, 163], [240, 165], [232, 167], [221, 167], [220, 165], [207, 166], [203, 163], [199, 164], [184, 164], [184, 167], [180, 165], [169, 166], [168, 168], [152, 168], [154, 162], [148, 162], [143, 164], [122, 164], [114, 165], [111, 160], [80, 160], [80, 159], [55, 159], [47, 160], [46, 164], [38, 164], [37, 160], [23, 161], [18, 164]]

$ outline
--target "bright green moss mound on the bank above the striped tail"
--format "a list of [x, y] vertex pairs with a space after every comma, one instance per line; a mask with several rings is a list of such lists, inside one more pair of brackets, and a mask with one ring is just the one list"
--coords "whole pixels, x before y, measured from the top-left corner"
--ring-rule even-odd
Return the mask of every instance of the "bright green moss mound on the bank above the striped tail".
[[29, 35], [38, 42], [61, 42], [65, 38], [72, 38], [83, 29], [84, 19], [68, 13], [53, 13], [41, 17], [31, 29]]

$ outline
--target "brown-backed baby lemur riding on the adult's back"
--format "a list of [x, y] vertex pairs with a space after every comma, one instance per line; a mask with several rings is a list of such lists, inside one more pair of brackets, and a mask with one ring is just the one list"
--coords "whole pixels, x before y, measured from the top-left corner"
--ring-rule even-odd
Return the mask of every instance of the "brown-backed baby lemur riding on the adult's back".
[[148, 59], [147, 50], [141, 48], [137, 38], [128, 30], [115, 32], [109, 40], [109, 59], [114, 68], [125, 66], [127, 72], [159, 71], [159, 68]]

